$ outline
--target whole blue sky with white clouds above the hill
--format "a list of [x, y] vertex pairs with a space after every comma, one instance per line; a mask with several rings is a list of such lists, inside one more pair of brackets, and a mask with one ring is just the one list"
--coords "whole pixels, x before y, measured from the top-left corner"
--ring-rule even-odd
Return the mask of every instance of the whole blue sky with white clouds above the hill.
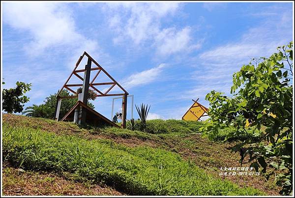
[[[25, 107], [56, 93], [86, 51], [150, 119], [181, 119], [191, 99], [229, 94], [243, 64], [293, 39], [291, 2], [1, 3], [2, 87], [32, 83]], [[111, 116], [112, 97], [92, 103]]]

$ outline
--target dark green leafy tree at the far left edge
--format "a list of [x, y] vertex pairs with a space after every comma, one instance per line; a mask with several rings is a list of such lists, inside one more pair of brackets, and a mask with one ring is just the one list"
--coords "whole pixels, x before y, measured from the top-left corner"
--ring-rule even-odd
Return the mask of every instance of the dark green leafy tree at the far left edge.
[[29, 102], [29, 98], [24, 95], [30, 90], [31, 84], [16, 82], [15, 88], [3, 89], [2, 107], [7, 113], [21, 113], [24, 104]]

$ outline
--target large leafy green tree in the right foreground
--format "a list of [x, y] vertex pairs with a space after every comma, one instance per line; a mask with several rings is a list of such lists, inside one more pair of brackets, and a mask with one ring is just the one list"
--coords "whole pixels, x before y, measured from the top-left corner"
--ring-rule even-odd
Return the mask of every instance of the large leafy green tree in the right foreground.
[[[249, 134], [248, 139], [236, 144], [241, 163], [248, 155], [251, 167], [261, 170], [266, 178], [278, 173], [276, 184], [281, 186], [280, 194], [290, 195], [293, 188], [293, 42], [277, 49], [278, 53], [268, 58], [252, 59], [233, 75], [232, 97], [214, 90], [207, 94], [210, 118], [203, 128], [203, 136], [213, 140], [220, 129], [228, 126], [236, 129], [232, 136], [249, 131], [262, 135], [263, 141], [254, 141]], [[266, 129], [262, 131], [261, 126]]]

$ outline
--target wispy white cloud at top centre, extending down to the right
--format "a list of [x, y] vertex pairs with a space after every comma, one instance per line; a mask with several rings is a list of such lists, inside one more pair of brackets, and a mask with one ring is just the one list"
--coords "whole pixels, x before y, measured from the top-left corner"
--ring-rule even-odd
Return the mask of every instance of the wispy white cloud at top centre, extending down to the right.
[[175, 15], [179, 3], [108, 3], [107, 8], [109, 27], [117, 33], [115, 44], [126, 42], [126, 38], [136, 46], [150, 41], [160, 56], [201, 47], [200, 42], [194, 44], [190, 27], [162, 28], [162, 20]]

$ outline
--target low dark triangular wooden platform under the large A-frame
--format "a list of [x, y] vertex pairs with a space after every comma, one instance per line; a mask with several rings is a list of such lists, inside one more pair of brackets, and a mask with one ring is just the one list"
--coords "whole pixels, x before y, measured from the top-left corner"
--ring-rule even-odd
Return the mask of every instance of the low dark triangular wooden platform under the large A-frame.
[[119, 127], [116, 123], [112, 122], [102, 114], [94, 111], [80, 100], [74, 105], [74, 107], [72, 107], [72, 109], [68, 113], [64, 115], [64, 117], [60, 121], [74, 121], [75, 109], [79, 106], [82, 106], [87, 111], [86, 123]]

